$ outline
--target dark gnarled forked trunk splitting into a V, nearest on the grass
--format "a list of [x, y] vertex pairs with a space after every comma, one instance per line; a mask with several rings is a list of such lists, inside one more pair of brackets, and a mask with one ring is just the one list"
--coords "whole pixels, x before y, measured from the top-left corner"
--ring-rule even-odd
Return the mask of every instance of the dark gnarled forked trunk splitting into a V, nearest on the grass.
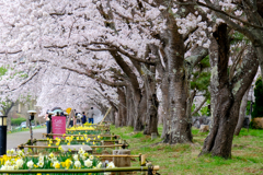
[[227, 25], [220, 24], [214, 32], [210, 45], [210, 94], [211, 94], [211, 126], [205, 139], [202, 154], [231, 158], [231, 147], [235, 128], [238, 122], [242, 96], [251, 84], [259, 63], [253, 49], [243, 58], [241, 71], [232, 80], [228, 75], [229, 38]]

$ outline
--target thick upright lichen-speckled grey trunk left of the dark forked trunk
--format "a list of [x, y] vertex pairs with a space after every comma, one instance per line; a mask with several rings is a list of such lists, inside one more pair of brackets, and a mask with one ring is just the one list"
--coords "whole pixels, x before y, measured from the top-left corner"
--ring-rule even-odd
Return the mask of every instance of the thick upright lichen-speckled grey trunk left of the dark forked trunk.
[[168, 43], [164, 51], [168, 57], [169, 71], [169, 130], [164, 142], [170, 144], [192, 142], [192, 121], [186, 115], [188, 97], [188, 75], [184, 65], [184, 40], [179, 34], [176, 22], [171, 14], [168, 18]]

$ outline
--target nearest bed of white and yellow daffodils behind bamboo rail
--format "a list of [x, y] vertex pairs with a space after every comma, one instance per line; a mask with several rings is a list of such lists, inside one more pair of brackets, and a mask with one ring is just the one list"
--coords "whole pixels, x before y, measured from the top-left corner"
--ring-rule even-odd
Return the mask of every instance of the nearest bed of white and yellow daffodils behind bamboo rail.
[[[38, 158], [25, 156], [22, 150], [15, 152], [8, 151], [0, 160], [1, 170], [81, 170], [81, 168], [101, 168], [102, 162], [94, 155], [90, 155], [80, 149], [78, 153], [49, 153], [39, 154]], [[105, 165], [107, 168], [115, 167], [113, 162]]]

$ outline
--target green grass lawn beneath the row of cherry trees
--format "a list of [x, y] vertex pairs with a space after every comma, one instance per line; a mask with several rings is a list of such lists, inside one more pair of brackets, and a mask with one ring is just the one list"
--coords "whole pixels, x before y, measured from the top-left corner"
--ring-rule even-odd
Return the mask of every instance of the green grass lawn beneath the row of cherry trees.
[[[162, 127], [159, 127], [161, 135]], [[193, 128], [193, 144], [169, 145], [161, 139], [151, 140], [142, 132], [135, 133], [132, 127], [111, 127], [111, 132], [119, 135], [129, 143], [132, 154], [146, 154], [153, 165], [160, 165], [160, 174], [263, 174], [263, 130], [242, 129], [239, 137], [235, 136], [232, 159], [201, 156], [198, 154], [208, 132], [201, 133]], [[158, 143], [158, 144], [155, 144]], [[134, 166], [139, 162], [134, 160]]]

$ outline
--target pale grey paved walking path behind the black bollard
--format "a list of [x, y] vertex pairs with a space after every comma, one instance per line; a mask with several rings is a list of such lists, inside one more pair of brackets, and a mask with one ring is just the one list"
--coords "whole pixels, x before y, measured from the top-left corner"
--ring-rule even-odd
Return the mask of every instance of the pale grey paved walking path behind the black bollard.
[[[42, 139], [42, 133], [46, 133], [46, 128], [33, 129], [33, 138]], [[30, 138], [30, 131], [9, 133], [7, 149], [14, 149], [19, 144], [25, 143]]]

